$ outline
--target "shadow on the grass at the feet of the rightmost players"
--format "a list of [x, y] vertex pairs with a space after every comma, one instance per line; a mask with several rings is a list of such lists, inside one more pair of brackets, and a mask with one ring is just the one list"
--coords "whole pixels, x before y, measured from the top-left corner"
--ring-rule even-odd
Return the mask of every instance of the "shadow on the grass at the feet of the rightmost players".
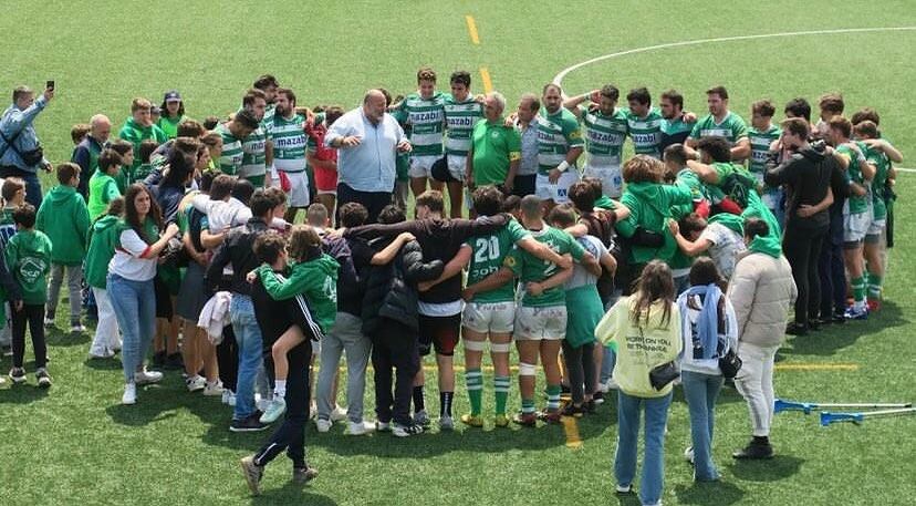
[[808, 335], [791, 337], [790, 347], [779, 350], [784, 355], [832, 355], [837, 350], [849, 348], [863, 335], [873, 334], [884, 329], [902, 327], [910, 321], [904, 318], [901, 308], [893, 301], [885, 301], [881, 311], [867, 321], [847, 321], [844, 324], [824, 326], [818, 332]]

